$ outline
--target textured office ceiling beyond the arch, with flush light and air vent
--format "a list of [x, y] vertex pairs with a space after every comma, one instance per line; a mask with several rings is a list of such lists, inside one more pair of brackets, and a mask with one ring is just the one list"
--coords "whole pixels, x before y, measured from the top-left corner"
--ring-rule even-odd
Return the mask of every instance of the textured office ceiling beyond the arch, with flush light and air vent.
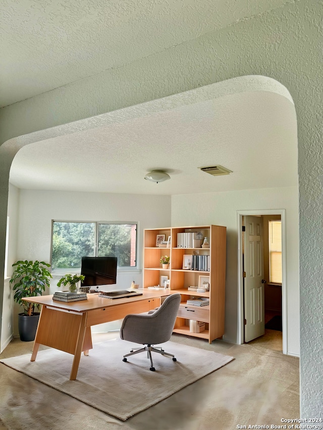
[[[72, 123], [72, 133], [24, 146], [10, 182], [27, 189], [170, 195], [296, 186], [293, 103], [270, 91], [209, 98], [211, 88], [188, 92], [200, 94], [197, 102], [187, 103], [183, 93], [92, 118], [104, 126], [82, 130], [84, 121]], [[174, 107], [163, 109], [167, 104]], [[233, 173], [214, 177], [198, 169], [216, 164]], [[153, 169], [167, 171], [171, 180], [144, 180]]]

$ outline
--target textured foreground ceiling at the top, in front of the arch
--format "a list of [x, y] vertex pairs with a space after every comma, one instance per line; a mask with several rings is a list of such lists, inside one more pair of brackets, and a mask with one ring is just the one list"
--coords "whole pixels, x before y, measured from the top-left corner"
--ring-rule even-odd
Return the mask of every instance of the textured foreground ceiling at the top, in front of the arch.
[[0, 106], [122, 67], [288, 0], [0, 0]]

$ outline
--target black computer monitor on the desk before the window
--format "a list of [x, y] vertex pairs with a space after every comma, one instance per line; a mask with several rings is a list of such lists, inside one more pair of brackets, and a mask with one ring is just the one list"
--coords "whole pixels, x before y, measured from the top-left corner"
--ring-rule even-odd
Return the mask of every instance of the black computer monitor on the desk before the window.
[[117, 283], [117, 257], [82, 257], [82, 287]]

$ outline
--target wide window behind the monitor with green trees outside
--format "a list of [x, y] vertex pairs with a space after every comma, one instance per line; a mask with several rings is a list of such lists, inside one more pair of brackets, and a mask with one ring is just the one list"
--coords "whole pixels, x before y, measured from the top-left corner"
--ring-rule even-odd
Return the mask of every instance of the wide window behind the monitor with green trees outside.
[[52, 222], [51, 269], [81, 268], [82, 257], [117, 257], [118, 268], [136, 267], [137, 224]]

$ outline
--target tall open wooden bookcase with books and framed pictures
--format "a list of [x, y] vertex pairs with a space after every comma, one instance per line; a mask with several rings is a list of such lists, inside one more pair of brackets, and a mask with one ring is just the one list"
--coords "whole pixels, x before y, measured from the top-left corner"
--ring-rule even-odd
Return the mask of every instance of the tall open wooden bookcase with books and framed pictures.
[[[161, 276], [167, 276], [170, 280], [170, 292], [182, 295], [182, 303], [174, 327], [175, 333], [207, 339], [209, 343], [221, 338], [224, 334], [226, 230], [226, 227], [219, 225], [144, 230], [143, 287], [158, 285]], [[197, 237], [195, 233], [200, 233], [199, 236], [208, 238], [209, 248], [190, 246], [193, 239]], [[154, 246], [156, 237], [160, 234], [165, 234], [165, 238], [171, 236], [171, 248]], [[187, 246], [178, 247], [178, 240]], [[169, 269], [159, 267], [162, 255], [170, 256]], [[206, 268], [206, 264], [208, 264], [209, 271], [183, 269], [185, 256], [189, 259], [191, 256], [202, 256], [202, 265], [194, 267]], [[194, 262], [199, 264], [198, 259], [198, 257], [194, 261], [192, 259], [192, 267]], [[208, 278], [209, 291], [188, 290], [188, 287], [199, 286], [200, 276]], [[186, 301], [192, 297], [208, 297], [209, 304], [206, 306], [187, 305]], [[205, 330], [201, 333], [191, 332], [190, 320], [205, 322]]]

